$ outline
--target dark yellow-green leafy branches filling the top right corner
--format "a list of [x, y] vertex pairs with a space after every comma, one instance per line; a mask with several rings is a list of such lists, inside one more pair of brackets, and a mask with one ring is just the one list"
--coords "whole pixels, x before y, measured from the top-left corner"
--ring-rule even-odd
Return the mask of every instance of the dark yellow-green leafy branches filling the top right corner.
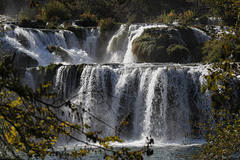
[[240, 23], [240, 0], [204, 0], [226, 25]]

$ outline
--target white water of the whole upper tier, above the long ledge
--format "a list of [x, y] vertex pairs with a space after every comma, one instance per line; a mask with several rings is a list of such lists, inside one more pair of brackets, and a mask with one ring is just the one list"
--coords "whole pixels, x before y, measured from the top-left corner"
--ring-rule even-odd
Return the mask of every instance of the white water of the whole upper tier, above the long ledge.
[[[6, 32], [0, 36], [0, 40], [10, 52], [23, 52], [39, 62], [39, 66], [47, 66], [51, 63], [81, 64], [81, 63], [135, 63], [136, 57], [132, 53], [132, 42], [138, 38], [144, 29], [165, 28], [164, 24], [133, 24], [127, 27], [121, 25], [119, 30], [109, 40], [104, 53], [98, 51], [98, 29], [85, 29], [86, 38], [80, 43], [74, 33], [65, 30], [40, 30], [20, 28], [5, 25]], [[209, 36], [203, 31], [192, 28], [199, 43], [209, 40]], [[123, 39], [119, 40], [119, 37]], [[124, 37], [125, 36], [125, 37]], [[181, 37], [179, 37], [180, 41]], [[120, 41], [120, 42], [119, 42]], [[116, 44], [117, 43], [117, 44]], [[184, 42], [183, 42], [184, 43]], [[50, 53], [46, 48], [48, 45], [60, 47], [68, 53], [73, 62], [67, 62]], [[118, 49], [116, 49], [116, 47]]]

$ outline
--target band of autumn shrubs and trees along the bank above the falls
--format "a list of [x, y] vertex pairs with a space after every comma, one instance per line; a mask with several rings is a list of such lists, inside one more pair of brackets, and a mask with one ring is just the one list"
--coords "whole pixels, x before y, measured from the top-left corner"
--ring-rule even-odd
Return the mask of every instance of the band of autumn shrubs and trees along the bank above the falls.
[[[24, 4], [23, 0], [19, 0], [19, 2], [22, 2], [22, 5]], [[120, 23], [139, 23], [154, 21], [157, 16], [171, 10], [181, 13], [185, 10], [186, 1], [30, 0], [29, 6], [31, 9], [21, 11], [22, 19], [32, 19], [33, 16], [36, 16], [47, 21], [62, 21], [71, 17], [72, 19], [80, 19], [80, 21], [83, 20], [85, 23], [89, 23], [89, 20], [96, 22], [96, 19], [112, 18]], [[34, 9], [39, 14], [29, 14]], [[82, 15], [85, 15], [85, 17], [82, 17]], [[92, 19], [93, 17], [86, 17], [86, 15], [94, 15], [95, 17]], [[85, 23], [83, 24], [87, 25]]]

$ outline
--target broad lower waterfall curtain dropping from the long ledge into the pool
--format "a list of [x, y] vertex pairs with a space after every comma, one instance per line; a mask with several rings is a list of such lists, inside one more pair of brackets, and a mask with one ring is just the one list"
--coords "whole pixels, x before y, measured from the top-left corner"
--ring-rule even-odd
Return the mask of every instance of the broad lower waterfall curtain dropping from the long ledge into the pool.
[[206, 71], [204, 65], [95, 64], [78, 74], [78, 66], [60, 66], [53, 81], [58, 95], [81, 107], [77, 113], [69, 111], [75, 115], [71, 121], [81, 115], [79, 123], [103, 137], [114, 135], [114, 128], [130, 114], [128, 125], [119, 131], [121, 138], [142, 141], [151, 135], [158, 143], [182, 142], [193, 134], [190, 121], [206, 120], [201, 110], [210, 101], [200, 91]]

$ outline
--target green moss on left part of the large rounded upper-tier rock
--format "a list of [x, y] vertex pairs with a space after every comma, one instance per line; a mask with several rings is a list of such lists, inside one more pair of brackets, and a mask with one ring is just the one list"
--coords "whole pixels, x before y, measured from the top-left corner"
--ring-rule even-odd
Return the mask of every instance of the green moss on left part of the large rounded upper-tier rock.
[[[172, 33], [170, 33], [172, 32]], [[168, 28], [150, 28], [144, 30], [143, 34], [134, 40], [133, 53], [138, 62], [169, 62], [167, 48], [171, 44], [178, 44], [177, 35], [174, 30]]]

